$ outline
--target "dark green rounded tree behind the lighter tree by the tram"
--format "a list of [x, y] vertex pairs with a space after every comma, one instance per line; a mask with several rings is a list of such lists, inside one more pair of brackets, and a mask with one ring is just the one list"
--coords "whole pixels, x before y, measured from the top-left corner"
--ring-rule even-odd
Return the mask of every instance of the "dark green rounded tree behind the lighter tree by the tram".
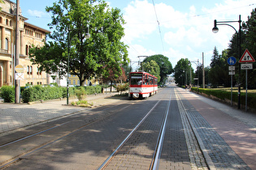
[[158, 64], [161, 77], [160, 83], [164, 83], [164, 80], [167, 78], [167, 74], [171, 74], [173, 72], [171, 62], [168, 60], [168, 57], [161, 54], [146, 57], [143, 62], [150, 62], [151, 60], [154, 60]]

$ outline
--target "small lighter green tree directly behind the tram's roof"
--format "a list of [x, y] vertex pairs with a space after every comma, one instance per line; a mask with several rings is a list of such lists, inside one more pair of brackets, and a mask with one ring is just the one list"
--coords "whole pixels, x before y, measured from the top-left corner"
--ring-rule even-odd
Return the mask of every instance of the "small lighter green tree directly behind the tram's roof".
[[158, 66], [158, 63], [154, 60], [151, 60], [150, 62], [142, 62], [142, 67], [145, 72], [148, 72], [155, 77], [158, 78], [158, 82], [160, 82], [160, 67]]

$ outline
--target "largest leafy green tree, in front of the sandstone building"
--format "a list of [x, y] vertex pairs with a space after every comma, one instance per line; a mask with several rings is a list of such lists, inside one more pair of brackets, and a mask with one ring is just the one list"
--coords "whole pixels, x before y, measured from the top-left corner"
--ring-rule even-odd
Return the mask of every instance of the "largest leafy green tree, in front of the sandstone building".
[[[95, 74], [107, 77], [110, 68], [115, 78], [122, 74], [121, 65], [128, 64], [128, 51], [120, 41], [124, 36], [124, 19], [119, 9], [111, 9], [102, 0], [59, 0], [47, 6], [46, 11], [52, 14], [48, 25], [54, 32], [47, 38], [53, 41], [30, 52], [31, 61], [39, 64], [40, 70], [49, 74], [58, 70], [60, 76], [67, 74], [70, 47], [69, 74], [77, 75], [80, 85]], [[91, 35], [88, 40], [85, 30]]]

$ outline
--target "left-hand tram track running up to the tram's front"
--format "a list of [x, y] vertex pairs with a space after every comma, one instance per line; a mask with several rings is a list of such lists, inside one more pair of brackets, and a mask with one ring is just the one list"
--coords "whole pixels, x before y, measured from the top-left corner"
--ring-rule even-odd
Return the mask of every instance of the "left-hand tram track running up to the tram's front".
[[[14, 145], [15, 146], [16, 145], [18, 145], [18, 146], [19, 145], [24, 145], [24, 144], [20, 144], [20, 142], [22, 142], [22, 143], [25, 142], [26, 143], [27, 141], [29, 142], [29, 140], [31, 140], [32, 138], [33, 138], [33, 140], [35, 140], [35, 138], [42, 138], [42, 136], [49, 136], [50, 133], [53, 133], [52, 132], [53, 130], [57, 130], [57, 131], [61, 130], [61, 129], [65, 130], [67, 128], [67, 126], [69, 126], [69, 128], [70, 128], [72, 125], [75, 125], [75, 126], [72, 126], [72, 130], [68, 130], [67, 133], [64, 133], [64, 134], [61, 133], [59, 136], [53, 136], [53, 139], [50, 139], [50, 140], [49, 139], [47, 139], [46, 141], [42, 140], [44, 142], [37, 143], [36, 147], [26, 149], [26, 151], [21, 151], [21, 153], [15, 154], [11, 158], [8, 158], [8, 159], [5, 159], [5, 160], [0, 159], [0, 161], [1, 161], [0, 162], [0, 169], [10, 166], [15, 161], [19, 161], [20, 159], [22, 159], [21, 158], [22, 156], [29, 155], [29, 154], [33, 153], [34, 151], [37, 151], [37, 150], [39, 150], [43, 147], [46, 147], [46, 146], [50, 145], [51, 143], [58, 141], [61, 138], [64, 138], [64, 137], [67, 137], [70, 134], [73, 134], [77, 130], [85, 128], [86, 126], [91, 125], [93, 123], [96, 123], [98, 121], [102, 121], [102, 120], [106, 119], [107, 117], [111, 117], [115, 113], [119, 113], [123, 109], [128, 108], [132, 104], [136, 104], [137, 102], [140, 102], [140, 100], [132, 100], [131, 102], [129, 102], [129, 104], [127, 104], [127, 101], [126, 102], [121, 102], [119, 104], [114, 104], [111, 107], [106, 107], [106, 106], [102, 107], [103, 109], [94, 108], [97, 111], [93, 112], [93, 113], [92, 113], [93, 108], [89, 109], [89, 110], [86, 110], [86, 111], [80, 111], [79, 113], [75, 113], [75, 114], [71, 114], [69, 116], [63, 117], [63, 121], [62, 121], [61, 118], [58, 118], [57, 121], [62, 121], [61, 123], [58, 122], [57, 125], [51, 126], [51, 127], [46, 128], [44, 130], [39, 130], [36, 133], [28, 134], [28, 135], [25, 135], [25, 136], [22, 136], [22, 137], [17, 135], [15, 139], [12, 138], [11, 141], [9, 141], [9, 142], [1, 142], [1, 140], [0, 140], [0, 149], [4, 150], [6, 147], [11, 148]], [[89, 119], [83, 121], [83, 120], [80, 119], [80, 116], [84, 116], [84, 117], [87, 117]], [[69, 120], [70, 118], [72, 120]], [[66, 121], [66, 119], [68, 121]], [[54, 124], [53, 121], [50, 122], [50, 125], [51, 124]], [[18, 132], [20, 133], [20, 131], [18, 131]], [[56, 133], [54, 133], [54, 134], [56, 134]], [[13, 134], [7, 134], [7, 135], [15, 136]], [[15, 147], [15, 149], [17, 149], [17, 147]], [[1, 156], [0, 156], [0, 158], [1, 158]]]

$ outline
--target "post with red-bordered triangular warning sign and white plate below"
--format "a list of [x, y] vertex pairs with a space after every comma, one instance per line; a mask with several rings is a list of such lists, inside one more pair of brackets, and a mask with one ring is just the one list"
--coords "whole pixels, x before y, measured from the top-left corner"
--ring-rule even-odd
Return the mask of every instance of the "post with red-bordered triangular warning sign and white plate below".
[[245, 63], [241, 64], [241, 70], [245, 70], [245, 86], [246, 86], [246, 93], [245, 93], [245, 112], [247, 111], [247, 77], [248, 77], [248, 71], [253, 69], [253, 64], [252, 63], [247, 63], [247, 62], [255, 62], [254, 57], [252, 54], [249, 53], [248, 49], [245, 49], [245, 53], [242, 55], [242, 57], [239, 60], [240, 63]]

